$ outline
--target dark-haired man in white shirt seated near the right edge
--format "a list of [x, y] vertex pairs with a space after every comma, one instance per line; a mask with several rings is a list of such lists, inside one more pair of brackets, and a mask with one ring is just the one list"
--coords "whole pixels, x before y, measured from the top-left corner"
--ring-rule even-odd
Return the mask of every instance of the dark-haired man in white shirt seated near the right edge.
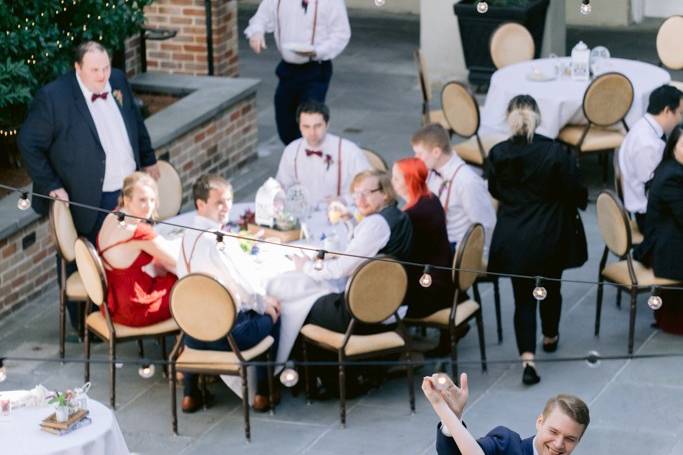
[[629, 130], [619, 149], [624, 206], [635, 213], [640, 232], [645, 232], [647, 195], [645, 184], [662, 161], [666, 136], [681, 123], [683, 92], [662, 85], [650, 93], [647, 113]]

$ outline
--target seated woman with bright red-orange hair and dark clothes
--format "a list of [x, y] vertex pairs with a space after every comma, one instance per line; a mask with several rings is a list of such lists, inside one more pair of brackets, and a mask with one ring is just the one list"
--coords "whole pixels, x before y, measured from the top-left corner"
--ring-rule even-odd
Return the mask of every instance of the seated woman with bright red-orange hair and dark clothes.
[[[410, 258], [414, 262], [450, 267], [451, 247], [446, 231], [446, 215], [441, 202], [427, 188], [429, 171], [419, 158], [398, 160], [393, 167], [391, 183], [396, 193], [406, 201], [403, 208], [413, 224], [413, 245]], [[408, 314], [422, 318], [448, 308], [453, 302], [453, 282], [446, 270], [433, 270], [432, 285], [420, 286], [423, 270], [406, 267]]]

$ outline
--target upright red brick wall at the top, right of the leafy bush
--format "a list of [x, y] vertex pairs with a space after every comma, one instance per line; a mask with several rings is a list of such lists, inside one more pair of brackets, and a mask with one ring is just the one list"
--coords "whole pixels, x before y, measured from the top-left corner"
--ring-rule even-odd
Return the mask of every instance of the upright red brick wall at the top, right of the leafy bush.
[[[145, 25], [175, 29], [165, 41], [147, 40], [147, 70], [204, 76], [208, 74], [204, 0], [157, 0], [145, 7]], [[212, 0], [211, 27], [215, 76], [239, 75], [237, 57], [237, 1]], [[139, 43], [129, 40], [128, 46]], [[131, 54], [139, 52], [131, 50]], [[133, 71], [139, 71], [139, 67]], [[136, 73], [129, 71], [129, 76]]]

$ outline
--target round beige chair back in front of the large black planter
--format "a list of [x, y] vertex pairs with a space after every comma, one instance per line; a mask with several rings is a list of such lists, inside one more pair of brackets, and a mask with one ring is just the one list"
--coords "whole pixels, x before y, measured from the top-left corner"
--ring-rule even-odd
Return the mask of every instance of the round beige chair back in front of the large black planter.
[[516, 22], [506, 22], [491, 35], [489, 50], [496, 68], [503, 68], [533, 59], [536, 46], [526, 27]]

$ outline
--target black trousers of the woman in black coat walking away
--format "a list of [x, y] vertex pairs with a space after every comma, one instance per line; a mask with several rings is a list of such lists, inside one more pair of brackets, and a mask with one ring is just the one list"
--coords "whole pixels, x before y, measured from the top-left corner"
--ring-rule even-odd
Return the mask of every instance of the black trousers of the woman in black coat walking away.
[[[543, 274], [549, 278], [561, 278], [562, 272]], [[519, 353], [536, 353], [536, 299], [533, 296], [536, 283], [526, 278], [511, 278], [515, 297], [515, 336]], [[552, 338], [559, 333], [562, 294], [559, 281], [543, 281], [548, 291], [545, 300], [540, 301], [541, 331]]]

